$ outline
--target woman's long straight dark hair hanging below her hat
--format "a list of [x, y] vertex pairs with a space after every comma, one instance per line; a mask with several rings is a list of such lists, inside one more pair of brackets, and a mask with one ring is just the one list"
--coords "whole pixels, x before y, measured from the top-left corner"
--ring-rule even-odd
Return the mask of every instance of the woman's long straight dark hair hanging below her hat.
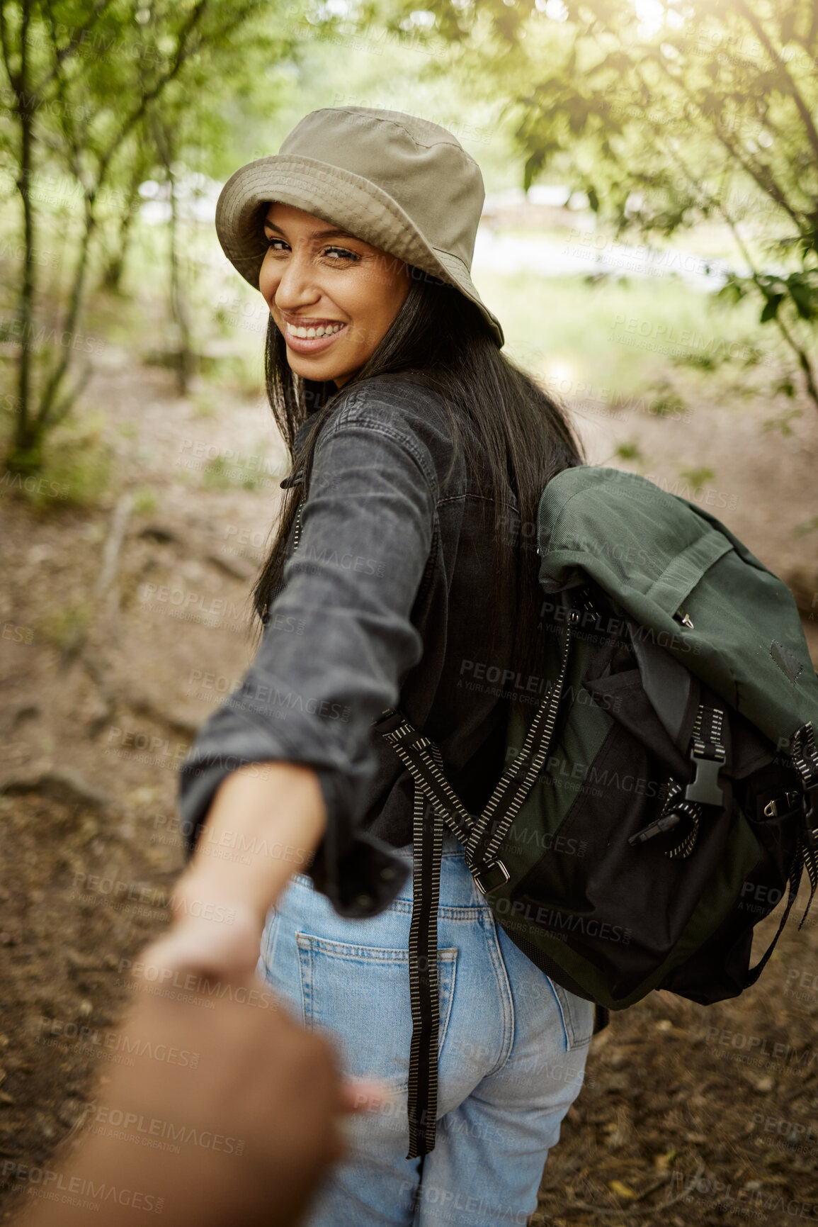
[[[410, 266], [410, 291], [380, 345], [341, 389], [294, 374], [283, 335], [270, 318], [265, 348], [267, 399], [293, 461], [293, 472], [309, 466], [318, 434], [341, 393], [386, 373], [406, 372], [439, 393], [451, 423], [453, 471], [457, 449], [468, 465], [486, 475], [494, 507], [494, 548], [486, 575], [495, 589], [516, 589], [515, 669], [524, 677], [542, 676], [542, 632], [537, 629], [542, 589], [536, 551], [540, 496], [557, 472], [584, 460], [581, 443], [564, 405], [497, 347], [480, 309], [453, 286]], [[313, 410], [312, 427], [299, 453], [297, 428]], [[482, 445], [482, 456], [481, 456]], [[448, 475], [446, 475], [448, 476]], [[508, 502], [511, 486], [520, 531]], [[285, 551], [300, 498], [300, 487], [285, 493], [273, 525], [275, 542], [253, 589], [259, 616], [282, 587]], [[497, 628], [495, 628], [497, 631]], [[503, 663], [500, 663], [503, 664]], [[511, 664], [511, 663], [509, 663]], [[519, 691], [525, 702], [525, 685]], [[516, 690], [515, 690], [516, 693]], [[536, 693], [536, 692], [535, 692]], [[542, 697], [542, 694], [540, 696]], [[529, 718], [532, 715], [527, 696]]]

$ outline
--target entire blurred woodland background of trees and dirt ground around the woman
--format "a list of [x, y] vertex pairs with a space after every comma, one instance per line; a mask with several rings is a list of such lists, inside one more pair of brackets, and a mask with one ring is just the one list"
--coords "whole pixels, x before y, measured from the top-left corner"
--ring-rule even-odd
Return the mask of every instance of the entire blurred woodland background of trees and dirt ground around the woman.
[[[818, 663], [818, 5], [0, 0], [0, 1162], [42, 1163], [167, 923], [178, 767], [254, 654], [288, 458], [224, 180], [319, 107], [453, 131], [505, 351], [592, 463], [781, 575]], [[616, 1016], [532, 1223], [809, 1217], [817, 953], [790, 924], [737, 1001]]]

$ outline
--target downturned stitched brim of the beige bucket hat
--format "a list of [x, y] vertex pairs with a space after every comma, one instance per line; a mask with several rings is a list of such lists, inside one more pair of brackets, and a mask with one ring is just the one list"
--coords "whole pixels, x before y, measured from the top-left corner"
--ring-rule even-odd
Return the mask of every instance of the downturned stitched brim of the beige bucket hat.
[[220, 193], [218, 242], [254, 290], [267, 252], [259, 211], [273, 201], [303, 209], [454, 286], [480, 308], [498, 348], [505, 344], [500, 321], [482, 302], [461, 259], [427, 243], [412, 218], [377, 184], [316, 158], [287, 153], [258, 158], [235, 171]]

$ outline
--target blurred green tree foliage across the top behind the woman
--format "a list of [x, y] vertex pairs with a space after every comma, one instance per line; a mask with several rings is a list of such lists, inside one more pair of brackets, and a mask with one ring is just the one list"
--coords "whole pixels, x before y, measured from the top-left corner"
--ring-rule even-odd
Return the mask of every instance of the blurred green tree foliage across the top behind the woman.
[[[88, 296], [121, 292], [145, 184], [169, 202], [167, 282], [185, 387], [180, 180], [224, 179], [237, 133], [275, 115], [309, 47], [367, 33], [434, 49], [497, 99], [526, 190], [569, 182], [616, 242], [731, 228], [758, 302], [818, 406], [818, 6], [795, 0], [0, 0], [0, 317], [10, 471], [34, 472], [82, 401]], [[408, 54], [408, 52], [407, 52]], [[407, 108], [408, 109], [408, 108]], [[755, 242], [747, 242], [748, 226]]]

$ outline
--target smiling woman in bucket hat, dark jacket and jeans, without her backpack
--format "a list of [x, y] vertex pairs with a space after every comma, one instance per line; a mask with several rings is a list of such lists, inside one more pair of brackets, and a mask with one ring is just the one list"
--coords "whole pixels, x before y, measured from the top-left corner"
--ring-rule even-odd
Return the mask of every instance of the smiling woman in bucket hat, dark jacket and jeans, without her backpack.
[[545, 686], [540, 493], [580, 461], [472, 285], [483, 199], [445, 129], [337, 107], [237, 171], [217, 209], [270, 309], [293, 476], [254, 591], [258, 656], [182, 767], [193, 859], [169, 940], [210, 967], [258, 960], [346, 1076], [391, 1091], [356, 1118], [315, 1227], [524, 1223], [592, 1031], [592, 1006], [494, 924], [446, 836], [437, 1135], [407, 1158], [412, 780], [372, 725], [400, 707], [480, 814], [509, 712], [531, 719]]

